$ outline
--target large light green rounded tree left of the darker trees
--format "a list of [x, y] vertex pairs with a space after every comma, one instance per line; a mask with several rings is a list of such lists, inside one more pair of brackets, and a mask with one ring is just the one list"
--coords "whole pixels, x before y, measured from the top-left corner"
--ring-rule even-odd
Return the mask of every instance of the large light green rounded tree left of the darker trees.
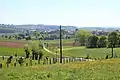
[[79, 42], [81, 46], [84, 46], [88, 37], [92, 34], [86, 30], [78, 30], [75, 33], [75, 42]]

